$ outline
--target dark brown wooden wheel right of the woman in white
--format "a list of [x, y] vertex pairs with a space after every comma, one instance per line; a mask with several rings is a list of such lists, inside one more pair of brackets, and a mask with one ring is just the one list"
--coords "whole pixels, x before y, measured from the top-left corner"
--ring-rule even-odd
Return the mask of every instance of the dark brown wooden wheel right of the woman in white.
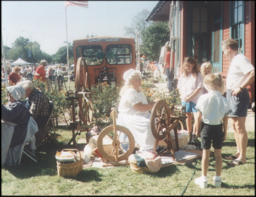
[[151, 131], [158, 141], [163, 140], [170, 125], [170, 109], [164, 100], [157, 101], [151, 111]]

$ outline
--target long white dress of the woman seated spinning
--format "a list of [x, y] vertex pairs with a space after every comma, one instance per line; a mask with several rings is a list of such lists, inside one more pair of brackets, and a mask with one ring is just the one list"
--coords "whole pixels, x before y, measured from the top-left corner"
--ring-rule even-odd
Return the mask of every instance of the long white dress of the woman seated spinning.
[[[149, 150], [154, 147], [155, 143], [150, 125], [151, 114], [148, 111], [138, 111], [133, 107], [139, 102], [148, 104], [144, 93], [138, 93], [133, 88], [127, 89], [119, 103], [116, 124], [124, 126], [132, 132], [135, 142], [140, 145], [140, 150]], [[120, 141], [125, 140], [125, 137], [125, 135], [120, 136]]]

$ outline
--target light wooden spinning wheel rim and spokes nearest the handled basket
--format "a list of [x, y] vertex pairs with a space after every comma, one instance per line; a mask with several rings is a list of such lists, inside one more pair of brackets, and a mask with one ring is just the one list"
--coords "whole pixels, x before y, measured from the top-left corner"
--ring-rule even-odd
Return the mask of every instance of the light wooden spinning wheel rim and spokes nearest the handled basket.
[[[104, 159], [108, 160], [108, 161], [122, 161], [125, 159], [128, 159], [128, 157], [133, 153], [134, 148], [135, 148], [135, 140], [134, 137], [132, 135], [132, 133], [130, 132], [129, 129], [127, 129], [124, 126], [120, 126], [120, 125], [115, 125], [115, 129], [116, 131], [120, 131], [117, 132], [117, 136], [116, 138], [112, 138], [112, 144], [109, 145], [103, 145], [103, 138], [108, 135], [111, 132], [114, 132], [114, 126], [110, 125], [108, 127], [106, 127], [105, 129], [103, 129], [98, 137], [97, 140], [97, 148], [100, 152], [100, 154], [104, 157]], [[118, 135], [119, 133], [119, 135]], [[119, 136], [121, 133], [124, 133], [127, 135], [128, 140], [125, 142], [120, 142], [119, 141]], [[124, 150], [122, 149], [122, 145], [124, 145], [124, 143], [128, 143], [129, 142], [129, 148], [126, 152], [124, 152]], [[110, 149], [110, 151], [108, 151], [107, 149]], [[116, 160], [117, 158], [117, 160]]]

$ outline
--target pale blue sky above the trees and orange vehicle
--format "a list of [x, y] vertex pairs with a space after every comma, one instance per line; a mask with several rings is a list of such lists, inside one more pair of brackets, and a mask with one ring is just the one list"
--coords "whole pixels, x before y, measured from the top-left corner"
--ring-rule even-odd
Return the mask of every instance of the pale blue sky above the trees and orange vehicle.
[[[3, 43], [12, 47], [19, 37], [37, 41], [52, 55], [66, 46], [65, 1], [1, 1]], [[144, 9], [152, 11], [158, 1], [88, 1], [89, 8], [68, 6], [68, 42], [91, 36], [124, 37], [124, 27]], [[28, 31], [23, 32], [22, 30]]]

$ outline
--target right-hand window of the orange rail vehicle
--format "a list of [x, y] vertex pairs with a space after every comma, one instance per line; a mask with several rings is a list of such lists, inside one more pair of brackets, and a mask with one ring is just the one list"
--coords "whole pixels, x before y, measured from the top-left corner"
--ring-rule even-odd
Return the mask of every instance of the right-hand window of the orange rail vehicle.
[[114, 57], [108, 59], [109, 64], [131, 64], [132, 46], [129, 44], [111, 44], [106, 48], [106, 52], [113, 52]]

